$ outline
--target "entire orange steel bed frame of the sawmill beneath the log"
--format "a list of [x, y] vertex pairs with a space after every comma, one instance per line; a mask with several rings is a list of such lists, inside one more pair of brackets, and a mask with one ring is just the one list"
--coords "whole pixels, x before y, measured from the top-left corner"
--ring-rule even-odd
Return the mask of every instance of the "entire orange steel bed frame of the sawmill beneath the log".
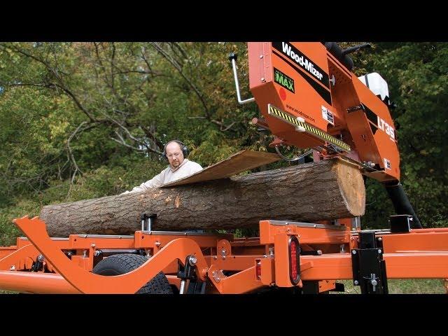
[[[231, 235], [191, 235], [183, 232], [142, 232], [134, 236], [71, 235], [51, 239], [39, 218], [15, 220], [28, 239], [2, 248], [0, 288], [24, 293], [136, 293], [160, 271], [179, 288], [176, 261], [197, 258], [197, 276], [214, 293], [249, 293], [266, 286], [302, 286], [319, 281], [321, 291], [334, 280], [353, 279], [351, 249], [358, 248], [358, 232], [343, 225], [260, 221], [260, 237], [233, 239]], [[388, 279], [448, 278], [448, 230], [419, 229], [405, 234], [378, 230]], [[299, 283], [290, 280], [290, 237], [300, 246], [321, 249], [321, 255], [300, 255]], [[342, 247], [344, 247], [342, 249]], [[92, 274], [95, 251], [144, 248], [152, 253], [144, 265], [127, 274]], [[71, 259], [63, 251], [73, 251]], [[6, 254], [8, 253], [8, 254]], [[47, 272], [31, 269], [45, 256]], [[212, 291], [213, 291], [212, 290]]]

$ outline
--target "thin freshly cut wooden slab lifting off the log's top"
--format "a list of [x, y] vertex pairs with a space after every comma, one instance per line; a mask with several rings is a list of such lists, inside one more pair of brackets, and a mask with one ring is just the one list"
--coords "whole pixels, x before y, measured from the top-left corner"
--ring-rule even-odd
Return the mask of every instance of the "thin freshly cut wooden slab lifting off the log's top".
[[279, 155], [274, 153], [244, 150], [216, 163], [215, 165], [202, 169], [202, 171], [197, 172], [196, 174], [187, 176], [186, 178], [177, 181], [166, 183], [160, 188], [225, 179], [226, 177], [236, 175], [249, 169], [267, 165], [278, 160], [280, 160]]

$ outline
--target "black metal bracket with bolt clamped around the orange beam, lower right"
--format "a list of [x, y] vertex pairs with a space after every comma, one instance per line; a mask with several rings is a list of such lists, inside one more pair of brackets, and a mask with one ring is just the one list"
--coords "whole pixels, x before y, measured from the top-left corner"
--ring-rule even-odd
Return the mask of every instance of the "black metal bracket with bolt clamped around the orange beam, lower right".
[[351, 250], [353, 285], [363, 294], [388, 294], [386, 260], [374, 232], [359, 232], [360, 248]]

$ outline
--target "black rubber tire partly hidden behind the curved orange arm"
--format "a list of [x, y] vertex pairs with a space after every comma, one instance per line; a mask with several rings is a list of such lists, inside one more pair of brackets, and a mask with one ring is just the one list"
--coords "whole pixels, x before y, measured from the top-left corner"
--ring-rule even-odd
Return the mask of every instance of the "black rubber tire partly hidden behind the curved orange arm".
[[[143, 265], [148, 259], [138, 254], [111, 255], [97, 263], [93, 269], [94, 274], [120, 275], [126, 274]], [[173, 294], [167, 276], [160, 272], [139, 289], [137, 294]]]

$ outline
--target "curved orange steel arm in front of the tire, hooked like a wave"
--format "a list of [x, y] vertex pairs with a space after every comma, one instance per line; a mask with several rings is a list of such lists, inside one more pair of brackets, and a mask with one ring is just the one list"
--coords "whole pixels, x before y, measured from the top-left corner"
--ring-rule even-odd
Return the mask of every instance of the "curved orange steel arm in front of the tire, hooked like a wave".
[[15, 219], [15, 224], [25, 233], [28, 239], [51, 262], [57, 272], [66, 281], [82, 293], [135, 293], [146, 282], [169, 265], [173, 260], [183, 262], [187, 255], [196, 255], [198, 276], [204, 280], [207, 263], [200, 246], [192, 239], [179, 238], [171, 241], [159, 253], [134, 271], [118, 276], [101, 276], [92, 274], [74, 265], [62, 251], [53, 244], [45, 229], [45, 222], [35, 217]]

